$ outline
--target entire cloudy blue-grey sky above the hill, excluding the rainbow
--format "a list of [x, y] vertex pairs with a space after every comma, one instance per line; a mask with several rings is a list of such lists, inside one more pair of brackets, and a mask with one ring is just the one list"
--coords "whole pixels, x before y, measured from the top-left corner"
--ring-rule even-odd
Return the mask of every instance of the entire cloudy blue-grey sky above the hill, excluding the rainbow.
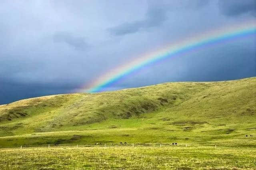
[[[0, 105], [76, 93], [148, 51], [209, 30], [256, 22], [255, 0], [1, 0]], [[114, 83], [256, 76], [256, 37], [166, 59]]]

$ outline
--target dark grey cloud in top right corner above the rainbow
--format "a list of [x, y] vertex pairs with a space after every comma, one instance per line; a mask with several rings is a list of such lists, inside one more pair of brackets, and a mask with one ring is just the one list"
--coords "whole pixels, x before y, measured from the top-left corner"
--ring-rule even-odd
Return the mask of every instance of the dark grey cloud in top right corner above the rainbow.
[[218, 5], [226, 16], [238, 16], [244, 13], [256, 16], [255, 0], [219, 0]]

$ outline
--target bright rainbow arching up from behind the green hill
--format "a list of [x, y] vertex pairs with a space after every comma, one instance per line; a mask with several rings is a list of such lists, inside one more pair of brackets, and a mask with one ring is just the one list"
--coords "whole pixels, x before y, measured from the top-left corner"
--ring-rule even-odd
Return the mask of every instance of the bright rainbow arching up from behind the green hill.
[[120, 67], [108, 71], [106, 74], [100, 76], [98, 79], [92, 81], [82, 87], [82, 91], [90, 93], [104, 91], [114, 83], [119, 82], [128, 75], [139, 71], [140, 69], [158, 63], [164, 59], [180, 56], [184, 53], [202, 49], [203, 47], [236, 40], [247, 36], [254, 36], [256, 34], [256, 22], [248, 21], [239, 25], [232, 25], [230, 27], [218, 28], [203, 34], [196, 35], [193, 38], [175, 42], [166, 45], [164, 48], [150, 53], [146, 53], [135, 60], [126, 63]]

